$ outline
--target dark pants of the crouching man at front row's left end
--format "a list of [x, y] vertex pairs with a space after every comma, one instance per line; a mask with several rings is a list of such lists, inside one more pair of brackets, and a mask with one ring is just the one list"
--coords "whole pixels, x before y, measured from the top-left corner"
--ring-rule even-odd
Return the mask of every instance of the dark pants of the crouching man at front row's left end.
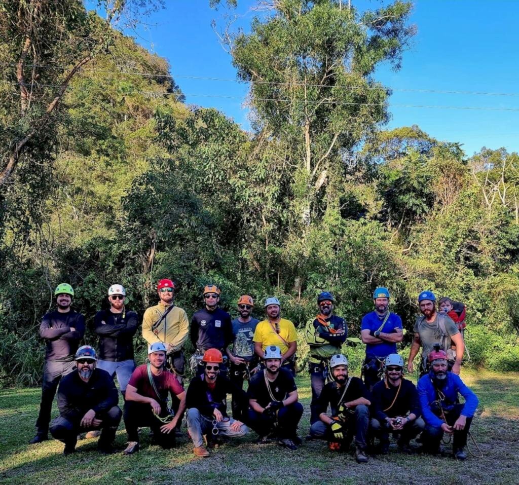
[[67, 446], [76, 446], [77, 435], [84, 431], [92, 431], [94, 429], [101, 429], [101, 436], [99, 437], [98, 446], [110, 446], [115, 438], [115, 433], [119, 422], [121, 421], [122, 411], [119, 406], [114, 406], [108, 411], [96, 414], [95, 418], [103, 422], [99, 428], [96, 427], [82, 427], [80, 425], [83, 416], [72, 421], [62, 416], [58, 416], [52, 421], [50, 425], [50, 434]]

